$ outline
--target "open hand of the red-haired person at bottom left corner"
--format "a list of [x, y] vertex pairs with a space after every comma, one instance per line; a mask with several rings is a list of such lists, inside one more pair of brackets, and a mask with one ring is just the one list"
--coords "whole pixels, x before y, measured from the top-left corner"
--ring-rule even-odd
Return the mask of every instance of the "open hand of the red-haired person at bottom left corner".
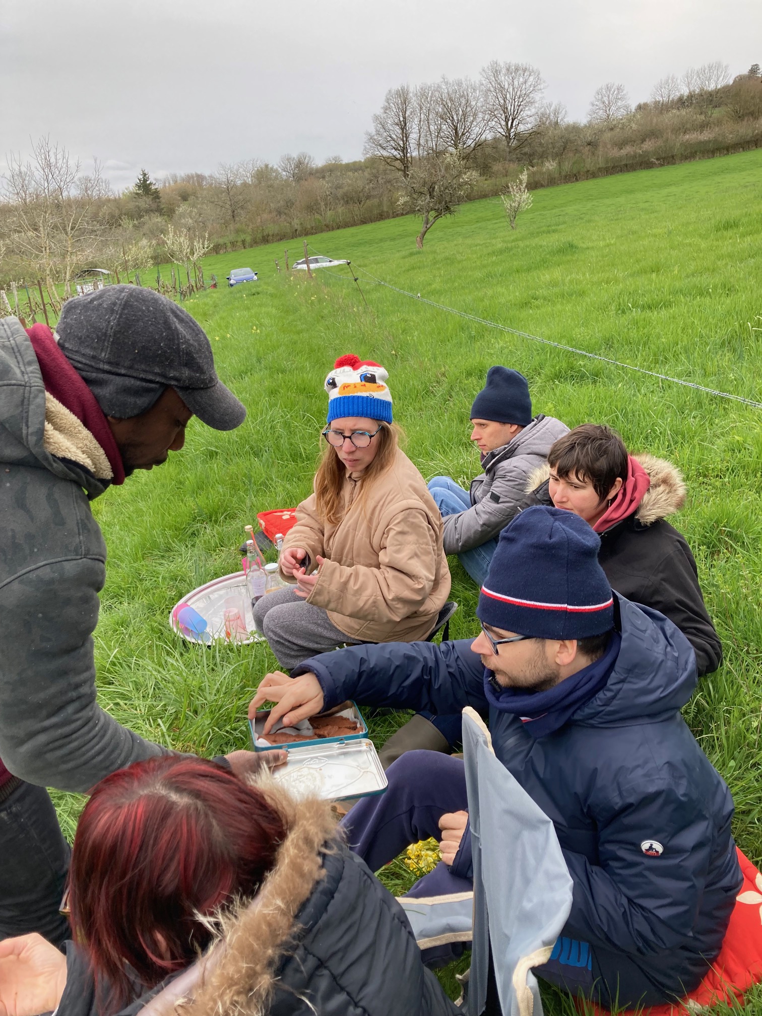
[[38, 935], [0, 942], [0, 1016], [52, 1012], [66, 987], [66, 957]]

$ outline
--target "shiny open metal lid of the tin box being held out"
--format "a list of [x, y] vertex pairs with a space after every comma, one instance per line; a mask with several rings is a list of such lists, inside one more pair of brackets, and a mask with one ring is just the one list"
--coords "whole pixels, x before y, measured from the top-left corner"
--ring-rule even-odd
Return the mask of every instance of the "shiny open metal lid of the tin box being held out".
[[363, 798], [387, 786], [378, 752], [367, 739], [290, 748], [285, 765], [272, 775], [295, 797], [323, 801]]

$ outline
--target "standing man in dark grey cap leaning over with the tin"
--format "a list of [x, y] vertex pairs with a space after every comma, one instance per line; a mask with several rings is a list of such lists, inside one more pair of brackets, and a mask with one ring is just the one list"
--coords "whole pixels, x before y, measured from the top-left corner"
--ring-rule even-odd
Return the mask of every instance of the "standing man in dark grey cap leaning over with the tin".
[[[246, 409], [191, 316], [150, 290], [67, 301], [57, 333], [0, 320], [0, 939], [69, 936], [69, 848], [45, 787], [86, 792], [169, 749], [98, 705], [92, 631], [106, 544], [89, 501]], [[237, 772], [254, 756], [218, 758]]]

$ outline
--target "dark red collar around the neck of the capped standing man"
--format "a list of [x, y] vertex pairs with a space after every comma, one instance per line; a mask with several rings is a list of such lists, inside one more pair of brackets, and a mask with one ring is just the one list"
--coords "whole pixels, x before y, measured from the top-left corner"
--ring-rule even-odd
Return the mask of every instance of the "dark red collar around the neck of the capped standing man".
[[45, 390], [73, 412], [80, 424], [90, 432], [109, 459], [114, 473], [113, 484], [124, 483], [124, 464], [109, 421], [98, 404], [96, 396], [71, 366], [58, 347], [53, 332], [44, 324], [26, 329], [31, 348], [35, 351], [40, 373], [43, 375]]

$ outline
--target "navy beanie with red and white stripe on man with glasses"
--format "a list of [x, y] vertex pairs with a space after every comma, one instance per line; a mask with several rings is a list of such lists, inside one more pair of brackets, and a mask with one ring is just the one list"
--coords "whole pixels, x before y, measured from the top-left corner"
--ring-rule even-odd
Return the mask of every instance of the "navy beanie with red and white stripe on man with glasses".
[[614, 627], [600, 539], [561, 508], [527, 508], [500, 534], [479, 597], [486, 625], [532, 638], [589, 638]]

